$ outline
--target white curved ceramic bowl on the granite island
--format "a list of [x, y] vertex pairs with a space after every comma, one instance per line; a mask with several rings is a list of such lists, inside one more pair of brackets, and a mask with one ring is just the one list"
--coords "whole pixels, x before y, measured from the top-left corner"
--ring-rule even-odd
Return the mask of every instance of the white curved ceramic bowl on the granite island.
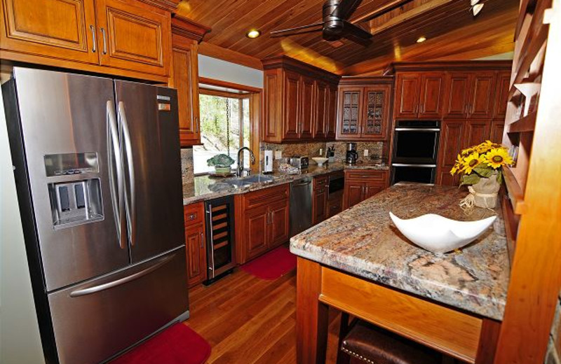
[[390, 212], [391, 221], [414, 244], [433, 253], [447, 253], [471, 243], [495, 221], [496, 216], [478, 221], [456, 221], [436, 214], [401, 219]]

